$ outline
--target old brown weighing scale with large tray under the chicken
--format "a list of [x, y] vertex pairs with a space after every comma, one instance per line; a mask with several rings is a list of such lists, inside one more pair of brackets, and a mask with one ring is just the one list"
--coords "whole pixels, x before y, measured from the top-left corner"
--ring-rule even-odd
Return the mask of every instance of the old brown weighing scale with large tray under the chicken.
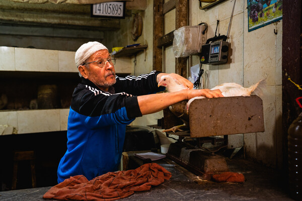
[[[169, 110], [160, 122], [163, 129], [182, 125]], [[179, 136], [166, 154], [168, 158], [199, 175], [229, 171], [226, 160], [217, 152], [228, 145], [228, 135], [264, 132], [263, 103], [256, 95], [194, 100], [189, 108], [189, 130], [166, 133]]]

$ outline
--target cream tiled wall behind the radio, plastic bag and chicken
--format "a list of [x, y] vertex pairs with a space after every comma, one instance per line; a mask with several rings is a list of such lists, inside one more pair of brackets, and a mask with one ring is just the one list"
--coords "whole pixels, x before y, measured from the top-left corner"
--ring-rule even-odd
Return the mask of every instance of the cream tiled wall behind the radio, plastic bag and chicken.
[[[215, 34], [216, 22], [220, 21], [217, 35], [226, 35], [232, 14], [234, 1], [225, 1], [207, 11], [199, 9], [198, 0], [189, 1], [189, 25], [200, 22], [208, 24], [207, 38]], [[127, 44], [148, 44], [146, 55], [136, 56], [135, 75], [152, 70], [152, 33], [153, 33], [153, 1], [147, 1], [147, 9], [139, 12], [143, 18], [143, 33], [136, 42], [132, 41], [130, 30], [131, 19], [126, 19]], [[204, 87], [211, 88], [224, 82], [237, 82], [248, 87], [267, 77], [267, 86], [261, 96], [264, 107], [265, 132], [242, 134], [246, 158], [262, 162], [268, 166], [281, 167], [281, 59], [282, 59], [282, 21], [248, 32], [247, 1], [237, 1], [228, 41], [231, 44], [231, 59], [223, 65], [204, 65]], [[175, 10], [165, 15], [165, 34], [175, 29]], [[274, 34], [274, 30], [277, 34]], [[120, 33], [116, 33], [119, 35]], [[115, 34], [114, 34], [115, 36]], [[125, 36], [125, 38], [124, 38]], [[112, 38], [112, 35], [111, 35]], [[118, 38], [115, 36], [114, 38]], [[123, 44], [125, 45], [125, 44]], [[123, 46], [122, 45], [122, 46]], [[188, 65], [198, 64], [198, 57], [191, 56]], [[164, 51], [165, 72], [175, 72], [175, 57], [172, 46]], [[137, 118], [133, 125], [156, 124], [162, 113]]]

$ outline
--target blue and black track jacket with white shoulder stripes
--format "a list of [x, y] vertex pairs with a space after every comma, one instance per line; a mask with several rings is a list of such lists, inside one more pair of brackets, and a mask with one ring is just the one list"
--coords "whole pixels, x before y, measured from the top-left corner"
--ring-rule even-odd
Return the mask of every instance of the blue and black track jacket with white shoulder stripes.
[[156, 81], [159, 73], [116, 76], [116, 83], [109, 92], [82, 78], [72, 94], [67, 151], [58, 166], [58, 183], [70, 176], [84, 175], [91, 180], [118, 170], [126, 125], [142, 116], [137, 95], [163, 90]]

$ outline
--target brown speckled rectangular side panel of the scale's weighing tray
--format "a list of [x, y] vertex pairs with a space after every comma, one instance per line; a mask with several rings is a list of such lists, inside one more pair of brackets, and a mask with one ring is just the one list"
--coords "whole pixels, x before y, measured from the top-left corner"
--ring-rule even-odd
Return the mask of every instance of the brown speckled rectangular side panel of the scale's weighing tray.
[[256, 95], [196, 99], [190, 104], [189, 122], [193, 138], [263, 132], [262, 99]]

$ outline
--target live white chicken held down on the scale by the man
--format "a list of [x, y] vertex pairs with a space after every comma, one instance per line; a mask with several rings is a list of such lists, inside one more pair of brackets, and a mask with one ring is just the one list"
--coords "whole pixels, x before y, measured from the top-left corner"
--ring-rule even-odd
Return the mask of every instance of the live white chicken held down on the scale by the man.
[[[243, 87], [240, 84], [234, 83], [234, 82], [228, 82], [223, 83], [220, 85], [215, 86], [214, 88], [211, 88], [211, 90], [219, 89], [222, 92], [222, 95], [224, 97], [230, 97], [230, 96], [250, 96], [252, 93], [256, 95], [261, 95], [262, 88], [265, 86], [266, 79], [262, 79], [258, 81], [256, 84], [250, 86], [250, 87]], [[168, 92], [175, 92], [178, 90], [186, 89], [187, 87], [181, 85], [176, 80], [174, 80], [169, 75], [164, 75], [160, 78], [159, 86], [165, 86]], [[192, 89], [194, 90], [194, 89]], [[173, 127], [171, 129], [165, 130], [164, 132], [175, 132], [177, 130], [180, 130], [182, 127], [188, 127], [189, 122], [189, 107], [190, 104], [193, 102], [193, 100], [198, 98], [205, 98], [204, 96], [198, 96], [189, 99], [188, 101], [184, 100], [180, 103], [174, 104], [169, 107], [170, 111], [179, 117], [183, 121], [183, 125]]]

